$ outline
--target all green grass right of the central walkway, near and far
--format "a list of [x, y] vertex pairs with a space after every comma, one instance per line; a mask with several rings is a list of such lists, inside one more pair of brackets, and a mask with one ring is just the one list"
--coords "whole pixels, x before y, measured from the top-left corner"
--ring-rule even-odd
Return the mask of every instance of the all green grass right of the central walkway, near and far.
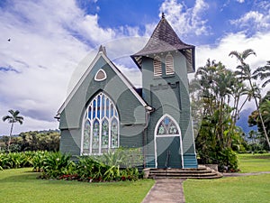
[[[270, 154], [239, 154], [241, 172], [270, 171]], [[269, 202], [270, 174], [184, 181], [187, 203]]]

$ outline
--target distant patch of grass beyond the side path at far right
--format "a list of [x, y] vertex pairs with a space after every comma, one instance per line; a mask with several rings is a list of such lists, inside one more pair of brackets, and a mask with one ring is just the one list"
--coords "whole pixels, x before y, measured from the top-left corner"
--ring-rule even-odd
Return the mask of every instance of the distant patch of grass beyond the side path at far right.
[[270, 171], [270, 153], [238, 154], [239, 169], [241, 172]]

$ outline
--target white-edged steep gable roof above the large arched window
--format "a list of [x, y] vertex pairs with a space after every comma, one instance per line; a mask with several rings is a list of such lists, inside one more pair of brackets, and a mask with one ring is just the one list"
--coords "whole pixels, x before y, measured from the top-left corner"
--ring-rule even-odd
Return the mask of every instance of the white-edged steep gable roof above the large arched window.
[[90, 73], [91, 69], [93, 69], [94, 64], [100, 59], [103, 58], [103, 60], [106, 61], [106, 63], [108, 63], [110, 65], [110, 67], [114, 70], [114, 72], [119, 76], [119, 78], [121, 78], [121, 80], [123, 81], [123, 83], [130, 89], [130, 91], [133, 93], [133, 95], [135, 97], [137, 97], [137, 99], [139, 100], [140, 104], [144, 107], [146, 107], [147, 110], [151, 109], [150, 106], [148, 106], [148, 104], [143, 100], [142, 97], [139, 96], [139, 93], [136, 91], [136, 88], [131, 84], [130, 80], [128, 78], [126, 78], [120, 71], [120, 69], [118, 69], [113, 63], [112, 61], [107, 57], [106, 55], [106, 51], [105, 48], [103, 46], [100, 46], [99, 51], [97, 53], [97, 55], [95, 56], [94, 60], [92, 61], [92, 63], [90, 64], [90, 66], [88, 67], [88, 69], [86, 69], [84, 75], [82, 76], [82, 78], [79, 79], [79, 81], [77, 82], [75, 88], [72, 89], [72, 91], [70, 92], [70, 94], [67, 96], [67, 99], [65, 100], [65, 102], [62, 104], [62, 106], [60, 106], [57, 115], [55, 116], [55, 118], [59, 118], [59, 115], [63, 112], [63, 110], [65, 109], [65, 107], [67, 106], [68, 102], [70, 101], [70, 99], [75, 95], [77, 89], [82, 85], [82, 83], [84, 82], [85, 78], [87, 77], [87, 75]]

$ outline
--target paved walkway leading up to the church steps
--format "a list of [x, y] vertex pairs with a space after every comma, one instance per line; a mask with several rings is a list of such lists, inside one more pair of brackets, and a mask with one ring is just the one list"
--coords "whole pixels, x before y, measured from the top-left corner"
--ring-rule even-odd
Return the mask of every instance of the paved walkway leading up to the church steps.
[[184, 203], [184, 179], [157, 179], [142, 203]]

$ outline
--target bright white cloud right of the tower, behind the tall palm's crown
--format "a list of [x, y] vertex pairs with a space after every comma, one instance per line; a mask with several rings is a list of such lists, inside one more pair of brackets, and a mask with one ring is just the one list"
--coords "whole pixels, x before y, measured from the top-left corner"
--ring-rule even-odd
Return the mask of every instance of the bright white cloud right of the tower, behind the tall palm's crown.
[[[224, 36], [216, 47], [209, 45], [198, 46], [196, 48], [196, 67], [203, 67], [206, 60], [221, 61], [227, 68], [236, 69], [238, 60], [229, 57], [230, 51], [245, 51], [253, 49], [257, 56], [250, 55], [247, 58], [247, 63], [252, 70], [258, 67], [265, 66], [269, 57], [270, 47], [270, 32], [257, 32], [252, 37], [248, 37], [244, 32], [229, 33]], [[267, 89], [263, 89], [263, 95], [266, 94]]]

